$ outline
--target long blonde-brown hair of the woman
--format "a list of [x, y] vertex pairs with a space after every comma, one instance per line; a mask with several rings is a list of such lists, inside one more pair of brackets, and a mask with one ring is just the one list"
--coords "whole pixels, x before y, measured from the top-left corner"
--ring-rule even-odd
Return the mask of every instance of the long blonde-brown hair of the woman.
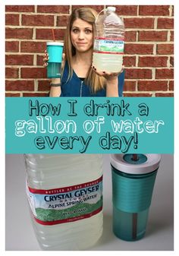
[[[72, 11], [68, 27], [64, 36], [64, 53], [65, 53], [65, 61], [68, 61], [69, 66], [69, 74], [68, 80], [71, 79], [73, 75], [72, 68], [72, 57], [76, 54], [76, 49], [71, 43], [71, 27], [73, 26], [74, 21], [77, 18], [80, 18], [83, 21], [88, 22], [93, 26], [93, 40], [94, 40], [94, 30], [95, 30], [95, 20], [96, 20], [97, 12], [93, 10], [93, 8], [77, 8]], [[90, 67], [89, 71], [86, 74], [85, 78], [86, 84], [89, 85], [91, 91], [96, 93], [96, 91], [105, 87], [105, 78], [100, 77], [93, 69]]]

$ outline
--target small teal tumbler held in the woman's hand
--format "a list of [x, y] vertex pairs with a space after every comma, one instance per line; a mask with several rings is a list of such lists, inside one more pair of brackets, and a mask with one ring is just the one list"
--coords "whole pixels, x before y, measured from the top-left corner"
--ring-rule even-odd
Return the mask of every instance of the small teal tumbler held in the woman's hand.
[[48, 78], [61, 77], [61, 62], [64, 43], [49, 42], [46, 43], [49, 61], [47, 66]]

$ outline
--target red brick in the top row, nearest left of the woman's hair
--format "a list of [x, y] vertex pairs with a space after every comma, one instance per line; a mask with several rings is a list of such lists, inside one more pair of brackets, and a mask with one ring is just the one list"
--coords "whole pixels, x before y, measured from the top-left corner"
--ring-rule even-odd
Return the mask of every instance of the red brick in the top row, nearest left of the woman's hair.
[[37, 5], [37, 12], [69, 14], [70, 5]]

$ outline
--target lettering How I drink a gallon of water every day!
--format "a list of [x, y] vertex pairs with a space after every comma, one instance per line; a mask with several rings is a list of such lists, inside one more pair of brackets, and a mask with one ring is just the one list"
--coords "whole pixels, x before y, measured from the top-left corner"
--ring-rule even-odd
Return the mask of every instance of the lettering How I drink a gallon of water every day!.
[[[19, 119], [14, 123], [15, 136], [24, 137], [27, 134], [40, 134], [33, 140], [35, 147], [39, 150], [44, 150], [47, 147], [51, 150], [55, 147], [60, 147], [62, 150], [72, 150], [74, 145], [78, 144], [79, 152], [85, 153], [90, 141], [93, 141], [93, 135], [95, 140], [95, 135], [100, 134], [98, 144], [103, 150], [118, 149], [122, 153], [127, 153], [132, 143], [133, 148], [137, 149], [138, 134], [157, 134], [160, 128], [165, 125], [163, 120], [143, 120], [144, 116], [149, 115], [149, 106], [146, 103], [138, 104], [138, 116], [130, 119], [133, 115], [130, 103], [125, 103], [124, 100], [119, 103], [110, 103], [110, 100], [106, 100], [103, 104], [96, 104], [95, 100], [90, 100], [89, 103], [82, 106], [86, 119], [79, 123], [77, 119], [79, 119], [80, 114], [75, 110], [76, 104], [77, 100], [68, 100], [68, 105], [65, 105], [65, 109], [68, 109], [67, 119], [54, 119], [54, 117], [59, 117], [63, 111], [64, 106], [61, 103], [53, 106], [52, 103], [40, 104], [38, 100], [35, 102], [29, 100], [28, 115], [30, 119]], [[127, 116], [127, 119], [116, 121], [116, 117], [119, 116], [123, 118]], [[108, 117], [110, 117], [110, 120], [108, 119], [110, 130], [103, 133]], [[78, 131], [81, 127], [83, 134], [79, 135]], [[52, 137], [53, 134], [55, 136]], [[67, 136], [69, 134], [71, 135]]]

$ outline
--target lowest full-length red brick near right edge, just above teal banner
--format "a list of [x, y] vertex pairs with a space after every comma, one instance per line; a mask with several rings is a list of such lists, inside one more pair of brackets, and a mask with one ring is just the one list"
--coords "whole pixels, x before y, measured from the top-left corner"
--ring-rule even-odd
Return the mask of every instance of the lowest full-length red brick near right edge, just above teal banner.
[[168, 90], [168, 81], [138, 81], [138, 90]]

